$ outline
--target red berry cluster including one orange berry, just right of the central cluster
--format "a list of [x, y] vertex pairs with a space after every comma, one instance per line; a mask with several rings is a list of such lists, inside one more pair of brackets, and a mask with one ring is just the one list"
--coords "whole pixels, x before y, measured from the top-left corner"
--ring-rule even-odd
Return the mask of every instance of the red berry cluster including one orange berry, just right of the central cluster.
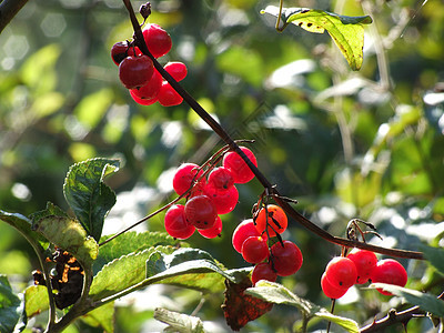
[[[252, 282], [259, 280], [276, 281], [278, 276], [287, 276], [299, 271], [303, 256], [301, 250], [291, 241], [282, 241], [280, 234], [286, 230], [285, 212], [275, 204], [259, 210], [253, 219], [241, 222], [233, 232], [234, 250], [242, 258], [255, 264]], [[271, 248], [268, 240], [279, 238]]]

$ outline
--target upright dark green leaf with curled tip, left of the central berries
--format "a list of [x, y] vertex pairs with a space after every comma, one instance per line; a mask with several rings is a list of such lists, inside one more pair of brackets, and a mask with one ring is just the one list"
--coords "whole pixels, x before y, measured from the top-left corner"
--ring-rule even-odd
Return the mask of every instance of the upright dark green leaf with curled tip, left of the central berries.
[[64, 180], [64, 198], [87, 230], [99, 241], [104, 218], [115, 204], [115, 193], [103, 179], [119, 169], [118, 160], [92, 159], [70, 168]]

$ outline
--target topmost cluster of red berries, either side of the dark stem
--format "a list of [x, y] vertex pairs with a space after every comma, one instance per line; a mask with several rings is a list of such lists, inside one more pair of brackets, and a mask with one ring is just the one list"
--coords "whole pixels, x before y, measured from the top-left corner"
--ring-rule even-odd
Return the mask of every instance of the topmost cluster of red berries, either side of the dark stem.
[[[148, 24], [142, 33], [148, 50], [154, 58], [165, 56], [171, 50], [171, 37], [160, 26]], [[163, 107], [182, 103], [182, 97], [162, 79], [151, 59], [143, 54], [134, 42], [117, 42], [111, 48], [111, 58], [119, 65], [120, 81], [130, 90], [137, 103], [151, 105], [159, 102]], [[168, 62], [164, 69], [176, 81], [186, 77], [186, 67], [182, 62]]]

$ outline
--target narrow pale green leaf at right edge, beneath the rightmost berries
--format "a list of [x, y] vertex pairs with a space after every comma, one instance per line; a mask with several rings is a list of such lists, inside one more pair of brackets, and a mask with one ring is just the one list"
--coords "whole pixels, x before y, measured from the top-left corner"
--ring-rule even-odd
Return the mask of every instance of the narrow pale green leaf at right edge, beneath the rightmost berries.
[[370, 287], [383, 289], [396, 296], [404, 297], [405, 301], [413, 305], [418, 305], [424, 311], [437, 316], [444, 316], [444, 301], [432, 294], [386, 283], [372, 283]]

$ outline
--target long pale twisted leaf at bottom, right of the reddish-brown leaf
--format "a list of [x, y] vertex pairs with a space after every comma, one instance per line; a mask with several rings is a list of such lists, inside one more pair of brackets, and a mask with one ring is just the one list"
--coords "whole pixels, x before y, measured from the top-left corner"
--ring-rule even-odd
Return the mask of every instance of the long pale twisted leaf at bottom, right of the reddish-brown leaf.
[[355, 321], [334, 315], [327, 310], [307, 300], [301, 299], [279, 283], [260, 281], [254, 287], [249, 287], [245, 293], [271, 303], [295, 306], [309, 319], [324, 319], [344, 327], [349, 332], [359, 332], [359, 326]]

